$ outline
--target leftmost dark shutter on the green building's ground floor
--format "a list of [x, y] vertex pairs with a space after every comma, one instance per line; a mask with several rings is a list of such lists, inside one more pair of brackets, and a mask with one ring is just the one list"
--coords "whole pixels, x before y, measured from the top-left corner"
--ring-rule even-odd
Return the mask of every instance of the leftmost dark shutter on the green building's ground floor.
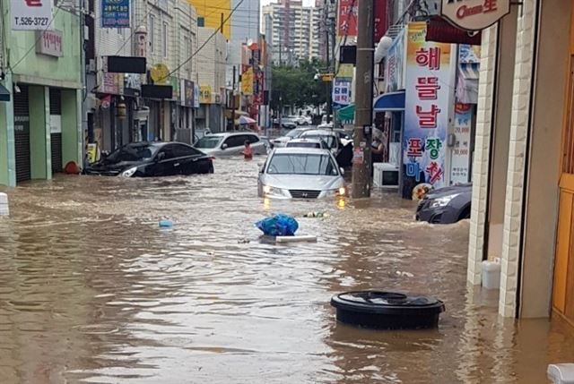
[[19, 93], [14, 92], [14, 147], [16, 182], [30, 180], [30, 113], [26, 85], [20, 85]]

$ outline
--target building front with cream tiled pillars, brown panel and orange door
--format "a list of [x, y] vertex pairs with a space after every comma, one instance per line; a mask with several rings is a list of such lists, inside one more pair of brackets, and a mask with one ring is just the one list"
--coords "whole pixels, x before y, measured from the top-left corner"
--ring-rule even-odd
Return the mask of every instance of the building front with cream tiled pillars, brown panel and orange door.
[[574, 324], [574, 2], [483, 30], [468, 282], [500, 258], [499, 312]]

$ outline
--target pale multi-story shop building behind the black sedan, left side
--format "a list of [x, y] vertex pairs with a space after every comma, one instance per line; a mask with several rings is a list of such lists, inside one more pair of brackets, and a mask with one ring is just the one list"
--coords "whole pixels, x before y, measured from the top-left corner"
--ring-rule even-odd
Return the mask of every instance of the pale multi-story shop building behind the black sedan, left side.
[[[100, 149], [132, 141], [191, 141], [197, 47], [196, 11], [182, 0], [132, 3], [129, 24], [101, 22], [101, 6], [90, 0], [86, 18], [88, 73], [86, 130]], [[95, 20], [95, 21], [94, 21]], [[108, 57], [145, 57], [144, 73], [109, 71]], [[191, 57], [191, 59], [189, 59]], [[161, 87], [171, 87], [171, 90]], [[165, 92], [168, 90], [168, 92]]]

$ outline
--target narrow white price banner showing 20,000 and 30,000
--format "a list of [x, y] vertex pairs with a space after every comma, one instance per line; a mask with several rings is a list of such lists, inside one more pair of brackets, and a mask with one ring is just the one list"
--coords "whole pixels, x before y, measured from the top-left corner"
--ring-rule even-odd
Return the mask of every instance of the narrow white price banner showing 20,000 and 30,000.
[[450, 183], [468, 183], [470, 181], [470, 141], [473, 106], [457, 103], [455, 107], [455, 145], [452, 149]]

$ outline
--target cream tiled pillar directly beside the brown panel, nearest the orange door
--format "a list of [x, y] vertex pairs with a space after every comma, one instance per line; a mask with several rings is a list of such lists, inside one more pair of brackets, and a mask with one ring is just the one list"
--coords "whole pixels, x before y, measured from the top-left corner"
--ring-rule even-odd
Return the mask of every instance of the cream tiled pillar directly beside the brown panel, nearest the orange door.
[[530, 98], [534, 91], [537, 3], [537, 1], [524, 2], [517, 23], [516, 66], [512, 92], [509, 168], [500, 273], [499, 313], [504, 317], [514, 317], [517, 314], [526, 143], [532, 107]]

